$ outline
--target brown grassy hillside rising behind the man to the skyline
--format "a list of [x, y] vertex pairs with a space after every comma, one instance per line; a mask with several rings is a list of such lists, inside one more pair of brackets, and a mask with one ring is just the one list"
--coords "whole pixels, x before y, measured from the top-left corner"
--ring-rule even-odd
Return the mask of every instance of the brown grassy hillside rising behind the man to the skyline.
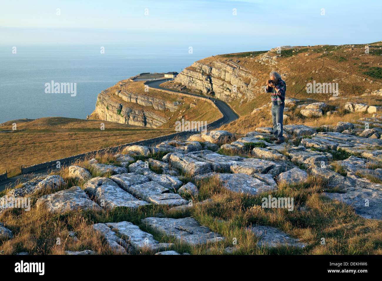
[[[365, 45], [370, 46], [369, 54], [365, 54]], [[265, 80], [269, 79], [270, 71], [277, 71], [282, 75], [287, 87], [286, 97], [297, 99], [329, 100], [332, 94], [306, 92], [307, 83], [313, 83], [313, 81], [338, 83], [340, 97], [360, 96], [382, 88], [382, 42], [295, 46], [291, 49], [281, 49], [280, 53], [272, 49], [271, 51], [215, 55], [197, 61], [206, 67], [213, 67], [213, 62], [224, 63], [231, 67], [233, 65], [230, 62], [233, 62], [234, 68], [248, 73], [248, 76], [257, 81], [251, 84], [252, 88], [257, 89], [254, 92], [254, 99], [237, 97], [228, 102], [241, 116], [250, 114], [254, 109], [270, 102], [269, 94], [261, 91]], [[185, 69], [200, 73], [200, 70], [195, 70], [193, 66]], [[211, 77], [220, 79], [214, 72]], [[249, 79], [243, 82], [249, 84]], [[178, 83], [175, 81], [167, 82], [167, 84]], [[240, 88], [238, 92], [240, 93]]]

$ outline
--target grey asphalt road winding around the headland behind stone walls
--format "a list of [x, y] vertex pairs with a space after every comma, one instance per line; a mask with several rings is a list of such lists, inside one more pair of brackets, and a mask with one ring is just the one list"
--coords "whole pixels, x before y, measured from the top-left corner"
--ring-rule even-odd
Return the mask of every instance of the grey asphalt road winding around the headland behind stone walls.
[[[154, 88], [154, 89], [164, 89], [166, 91], [171, 91], [171, 92], [174, 92], [174, 93], [182, 93], [182, 94], [185, 94], [183, 92], [178, 92], [178, 91], [172, 91], [172, 90], [169, 90], [169, 89], [166, 89], [166, 88], [162, 88], [160, 87], [159, 85], [161, 83], [163, 83], [164, 81], [166, 81], [166, 79], [161, 79], [161, 80], [153, 80], [153, 81], [147, 81], [146, 84], [149, 85], [150, 88]], [[190, 96], [197, 96], [197, 97], [202, 97], [202, 98], [205, 98], [207, 99], [207, 97], [204, 97], [204, 96], [199, 96], [197, 94], [188, 94]], [[209, 126], [208, 127], [208, 130], [213, 130], [213, 129], [216, 129], [216, 128], [219, 128], [220, 126], [222, 126], [223, 124], [227, 124], [227, 123], [230, 123], [231, 121], [233, 120], [236, 120], [238, 119], [238, 115], [236, 115], [235, 112], [233, 112], [233, 110], [228, 106], [228, 104], [226, 104], [225, 102], [223, 101], [220, 101], [219, 99], [214, 99], [214, 98], [211, 98], [212, 101], [216, 100], [216, 106], [219, 108], [219, 110], [222, 112], [223, 114], [223, 119], [221, 122], [217, 123], [217, 124], [214, 124], [213, 126]], [[163, 136], [163, 137], [160, 137], [160, 138], [156, 138], [155, 140], [153, 141], [150, 141], [150, 140], [142, 140], [142, 145], [145, 145], [145, 146], [151, 146], [151, 145], [157, 145], [159, 143], [161, 143], [162, 141], [167, 141], [167, 140], [173, 140], [173, 138], [176, 136], [177, 139], [180, 139], [180, 140], [186, 140], [188, 138], [188, 136], [190, 135], [193, 135], [195, 132], [179, 132], [177, 133], [176, 135], [172, 134], [170, 136]], [[71, 164], [71, 161], [68, 161], [68, 162], [62, 162], [61, 165], [62, 166], [68, 166]], [[40, 169], [40, 170], [37, 170], [35, 171], [34, 173], [32, 174], [21, 174], [21, 175], [18, 175], [16, 177], [12, 177], [12, 178], [9, 178], [9, 179], [6, 179], [6, 180], [3, 180], [3, 181], [0, 181], [0, 191], [4, 190], [6, 187], [13, 187], [15, 186], [15, 183], [17, 180], [19, 180], [19, 182], [21, 180], [25, 180], [25, 179], [31, 179], [33, 177], [37, 177], [37, 176], [40, 176], [40, 175], [45, 175], [45, 174], [48, 174], [52, 169], [49, 169], [49, 168], [44, 168], [44, 169]]]

